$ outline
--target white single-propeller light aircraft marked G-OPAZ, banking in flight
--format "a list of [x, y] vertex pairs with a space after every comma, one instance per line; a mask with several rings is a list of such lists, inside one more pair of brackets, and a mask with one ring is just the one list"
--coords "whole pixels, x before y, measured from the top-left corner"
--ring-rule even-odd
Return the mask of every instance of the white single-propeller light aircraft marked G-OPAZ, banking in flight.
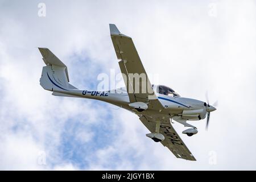
[[114, 24], [109, 26], [125, 88], [104, 91], [77, 89], [69, 84], [67, 66], [48, 48], [39, 48], [46, 64], [40, 85], [51, 91], [53, 96], [92, 98], [129, 110], [137, 114], [143, 125], [150, 130], [147, 137], [168, 147], [176, 158], [196, 160], [172, 127], [171, 121], [173, 119], [184, 127], [190, 127], [183, 134], [192, 136], [198, 131], [187, 121], [207, 117], [208, 126], [210, 112], [216, 108], [209, 105], [209, 102], [181, 97], [168, 86], [151, 85], [133, 40], [121, 34]]

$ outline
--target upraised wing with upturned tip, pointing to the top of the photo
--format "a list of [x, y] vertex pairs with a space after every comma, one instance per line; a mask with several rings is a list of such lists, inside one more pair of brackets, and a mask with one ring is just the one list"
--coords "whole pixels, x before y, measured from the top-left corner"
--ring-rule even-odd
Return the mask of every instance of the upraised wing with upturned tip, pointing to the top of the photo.
[[[123, 73], [130, 102], [157, 100], [133, 40], [129, 36], [121, 34], [114, 24], [109, 24], [109, 27], [117, 59], [121, 60], [119, 67]], [[142, 78], [136, 80], [138, 77], [135, 77], [138, 75]], [[162, 105], [158, 106], [159, 109], [162, 109]]]

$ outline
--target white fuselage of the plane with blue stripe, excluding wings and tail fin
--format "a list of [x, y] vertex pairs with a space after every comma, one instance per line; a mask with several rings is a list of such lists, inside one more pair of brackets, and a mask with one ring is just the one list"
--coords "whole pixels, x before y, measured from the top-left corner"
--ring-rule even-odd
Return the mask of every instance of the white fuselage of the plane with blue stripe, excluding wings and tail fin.
[[[60, 91], [58, 91], [60, 92]], [[185, 98], [185, 97], [170, 97], [164, 94], [157, 94], [158, 100], [164, 106], [163, 110], [154, 110], [148, 108], [144, 111], [134, 110], [133, 107], [130, 107], [129, 104], [129, 96], [125, 92], [118, 92], [116, 90], [108, 90], [108, 91], [98, 91], [98, 90], [63, 90], [61, 91], [63, 94], [67, 94], [67, 96], [75, 96], [81, 98], [91, 98], [94, 100], [100, 100], [104, 102], [108, 102], [110, 104], [122, 107], [133, 113], [143, 114], [143, 115], [170, 115], [174, 116], [183, 116], [186, 120], [200, 120], [205, 118], [206, 110], [205, 110], [205, 102]], [[185, 113], [185, 114], [184, 114]]]

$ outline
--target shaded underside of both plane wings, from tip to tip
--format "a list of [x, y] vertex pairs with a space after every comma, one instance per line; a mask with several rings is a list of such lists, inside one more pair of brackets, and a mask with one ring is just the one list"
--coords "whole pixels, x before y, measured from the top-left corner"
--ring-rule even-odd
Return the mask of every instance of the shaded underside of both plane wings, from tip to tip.
[[[110, 24], [109, 26], [115, 53], [117, 55], [117, 59], [120, 60], [119, 67], [123, 73], [123, 80], [126, 84], [130, 102], [146, 102], [148, 103], [149, 109], [159, 110], [160, 114], [164, 107], [156, 98], [142, 61], [134, 46], [133, 40], [129, 36], [121, 34], [114, 24]], [[136, 75], [142, 77], [136, 80], [134, 77]], [[159, 114], [155, 113], [152, 118], [162, 118], [162, 115]], [[140, 117], [140, 120], [151, 133], [154, 133], [156, 121], [155, 119], [152, 121], [152, 118], [148, 118], [143, 115]], [[196, 160], [171, 126], [169, 117], [166, 117], [164, 121], [161, 121], [159, 132], [165, 137], [165, 140], [161, 143], [168, 147], [177, 158]]]

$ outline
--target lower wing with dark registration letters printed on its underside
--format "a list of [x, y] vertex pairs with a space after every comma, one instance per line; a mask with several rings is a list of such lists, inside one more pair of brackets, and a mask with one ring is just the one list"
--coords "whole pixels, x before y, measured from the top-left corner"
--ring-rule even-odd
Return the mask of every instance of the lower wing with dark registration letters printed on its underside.
[[[140, 118], [141, 122], [150, 130], [151, 133], [155, 132], [155, 121], [151, 118], [142, 115]], [[181, 140], [179, 135], [172, 127], [170, 119], [168, 121], [162, 121], [160, 125], [159, 133], [164, 135], [164, 140], [161, 142], [163, 146], [169, 148], [169, 150], [176, 156], [176, 158], [186, 160], [196, 160], [195, 157], [188, 150], [185, 143]]]

